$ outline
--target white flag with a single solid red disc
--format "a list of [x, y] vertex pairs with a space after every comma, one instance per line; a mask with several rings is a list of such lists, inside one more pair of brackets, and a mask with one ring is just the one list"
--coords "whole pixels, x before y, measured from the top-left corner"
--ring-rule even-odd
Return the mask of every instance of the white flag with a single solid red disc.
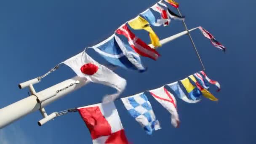
[[85, 51], [78, 53], [63, 63], [73, 69], [79, 77], [85, 77], [93, 83], [100, 83], [115, 88], [117, 93], [105, 96], [103, 99], [104, 103], [114, 101], [125, 90], [125, 79], [104, 65], [99, 64]]

